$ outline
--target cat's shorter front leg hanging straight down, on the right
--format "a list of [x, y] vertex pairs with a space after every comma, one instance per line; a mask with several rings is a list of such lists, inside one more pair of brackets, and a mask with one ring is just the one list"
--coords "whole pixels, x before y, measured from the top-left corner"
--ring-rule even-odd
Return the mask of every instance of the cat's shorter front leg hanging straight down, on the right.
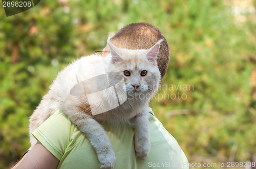
[[141, 158], [146, 158], [150, 153], [150, 131], [148, 129], [147, 113], [147, 111], [143, 111], [131, 119], [134, 128], [135, 152]]

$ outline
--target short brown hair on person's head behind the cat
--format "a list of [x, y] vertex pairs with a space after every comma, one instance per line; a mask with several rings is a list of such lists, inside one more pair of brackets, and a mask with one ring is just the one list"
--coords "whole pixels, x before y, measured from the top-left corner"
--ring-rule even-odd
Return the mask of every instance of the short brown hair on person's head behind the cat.
[[[164, 41], [160, 45], [157, 57], [157, 66], [162, 79], [169, 64], [169, 47], [165, 37], [156, 26], [144, 22], [132, 23], [119, 30], [110, 41], [118, 48], [135, 50], [149, 49], [162, 38], [164, 38]], [[107, 45], [104, 50], [108, 49], [109, 47]], [[105, 54], [102, 52], [102, 56]]]

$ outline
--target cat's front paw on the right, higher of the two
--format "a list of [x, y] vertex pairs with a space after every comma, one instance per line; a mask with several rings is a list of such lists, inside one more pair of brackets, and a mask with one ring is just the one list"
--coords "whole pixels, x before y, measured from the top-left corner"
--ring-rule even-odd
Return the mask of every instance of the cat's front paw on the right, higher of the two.
[[136, 156], [141, 158], [146, 158], [148, 153], [150, 153], [150, 139], [147, 137], [140, 138], [135, 142], [135, 152]]

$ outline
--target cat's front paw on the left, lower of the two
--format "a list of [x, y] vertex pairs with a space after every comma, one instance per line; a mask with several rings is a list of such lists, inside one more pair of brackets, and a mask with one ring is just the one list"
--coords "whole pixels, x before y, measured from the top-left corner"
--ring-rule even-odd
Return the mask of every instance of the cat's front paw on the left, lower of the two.
[[116, 162], [116, 156], [113, 149], [105, 149], [98, 154], [99, 162], [101, 163], [100, 168], [113, 168]]

